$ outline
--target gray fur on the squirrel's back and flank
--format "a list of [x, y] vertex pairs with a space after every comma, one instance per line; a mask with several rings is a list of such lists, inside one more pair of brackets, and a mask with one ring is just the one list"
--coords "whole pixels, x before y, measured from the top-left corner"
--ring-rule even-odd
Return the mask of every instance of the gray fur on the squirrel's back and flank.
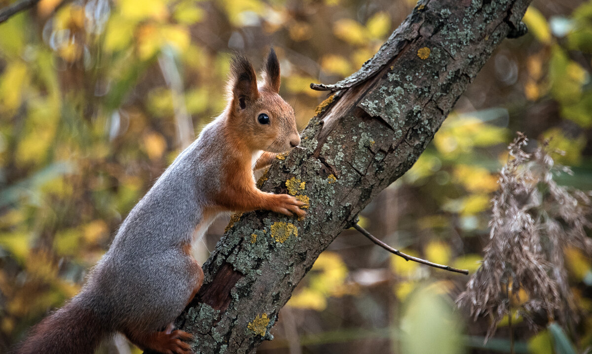
[[198, 280], [188, 268], [195, 263], [180, 244], [191, 243], [208, 196], [220, 190], [218, 174], [211, 171], [224, 158], [224, 150], [217, 148], [224, 116], [203, 129], [131, 210], [73, 298], [73, 303], [91, 306], [114, 330], [162, 330], [191, 296]]

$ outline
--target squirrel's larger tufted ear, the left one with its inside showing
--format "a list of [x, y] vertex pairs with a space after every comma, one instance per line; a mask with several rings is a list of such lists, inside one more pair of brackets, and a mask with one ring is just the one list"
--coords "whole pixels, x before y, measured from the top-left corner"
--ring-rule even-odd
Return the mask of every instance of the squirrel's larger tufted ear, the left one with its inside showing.
[[230, 62], [230, 85], [233, 105], [245, 109], [259, 97], [255, 69], [242, 54], [234, 54]]

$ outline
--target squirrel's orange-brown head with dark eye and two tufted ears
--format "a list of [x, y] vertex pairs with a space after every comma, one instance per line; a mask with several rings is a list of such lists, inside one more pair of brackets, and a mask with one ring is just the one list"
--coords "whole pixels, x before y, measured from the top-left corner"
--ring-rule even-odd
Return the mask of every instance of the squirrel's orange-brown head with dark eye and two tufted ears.
[[294, 109], [279, 96], [279, 61], [271, 48], [263, 64], [263, 82], [236, 54], [230, 64], [229, 121], [252, 150], [284, 152], [300, 144]]

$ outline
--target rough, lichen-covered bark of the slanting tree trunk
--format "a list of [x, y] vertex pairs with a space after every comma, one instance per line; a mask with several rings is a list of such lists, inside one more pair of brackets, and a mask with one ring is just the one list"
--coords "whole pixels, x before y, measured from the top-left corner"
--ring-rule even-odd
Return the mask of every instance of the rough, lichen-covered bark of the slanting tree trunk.
[[[415, 163], [530, 0], [422, 0], [362, 69], [336, 85], [262, 189], [308, 197], [304, 220], [240, 217], [204, 264], [178, 326], [196, 353], [250, 353], [317, 256]], [[305, 197], [304, 197], [305, 196]]]

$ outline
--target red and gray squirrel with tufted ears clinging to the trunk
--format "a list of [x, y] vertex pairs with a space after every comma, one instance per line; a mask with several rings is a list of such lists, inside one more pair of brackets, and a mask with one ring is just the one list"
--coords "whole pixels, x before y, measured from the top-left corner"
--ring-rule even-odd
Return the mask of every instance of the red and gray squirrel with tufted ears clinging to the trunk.
[[221, 213], [305, 216], [300, 200], [255, 185], [254, 170], [300, 144], [294, 109], [279, 96], [274, 48], [262, 77], [258, 85], [249, 60], [233, 56], [226, 109], [133, 207], [80, 293], [34, 326], [16, 353], [93, 353], [115, 332], [143, 350], [191, 353], [191, 334], [173, 321], [204, 280], [192, 241]]

